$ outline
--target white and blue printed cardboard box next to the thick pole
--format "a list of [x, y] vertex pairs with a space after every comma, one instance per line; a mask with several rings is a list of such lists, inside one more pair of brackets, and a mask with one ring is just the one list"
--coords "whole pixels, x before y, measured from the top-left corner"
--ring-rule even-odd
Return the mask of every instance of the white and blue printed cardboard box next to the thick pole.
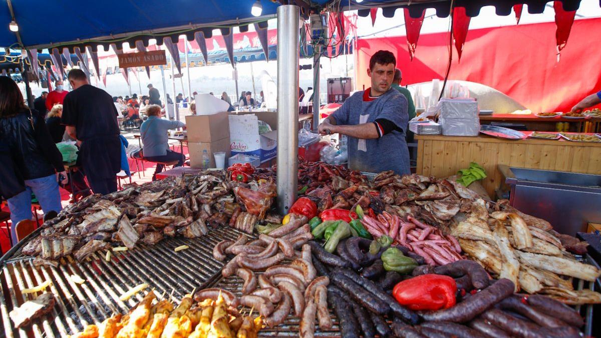
[[257, 156], [261, 163], [277, 155], [278, 132], [259, 134], [257, 115], [230, 115], [230, 132], [231, 155]]

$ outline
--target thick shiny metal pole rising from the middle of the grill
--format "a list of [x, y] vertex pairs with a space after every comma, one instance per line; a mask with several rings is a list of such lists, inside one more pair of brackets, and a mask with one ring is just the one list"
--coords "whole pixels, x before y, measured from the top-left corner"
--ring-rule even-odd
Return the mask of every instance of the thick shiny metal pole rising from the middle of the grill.
[[299, 7], [278, 7], [278, 210], [296, 201], [299, 123]]

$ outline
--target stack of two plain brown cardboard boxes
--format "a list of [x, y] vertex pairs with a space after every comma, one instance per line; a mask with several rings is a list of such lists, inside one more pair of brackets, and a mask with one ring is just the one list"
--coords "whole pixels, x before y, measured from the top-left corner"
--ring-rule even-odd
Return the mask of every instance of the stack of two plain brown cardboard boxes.
[[188, 130], [191, 167], [203, 167], [203, 150], [205, 149], [211, 168], [215, 168], [213, 153], [225, 152], [225, 158], [230, 157], [230, 121], [227, 112], [186, 116], [186, 129]]

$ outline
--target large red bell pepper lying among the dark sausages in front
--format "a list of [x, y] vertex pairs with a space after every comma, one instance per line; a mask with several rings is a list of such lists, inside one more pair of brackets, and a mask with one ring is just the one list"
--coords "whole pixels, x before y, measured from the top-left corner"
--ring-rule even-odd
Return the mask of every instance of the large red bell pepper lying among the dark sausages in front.
[[394, 286], [395, 300], [411, 310], [440, 310], [455, 305], [457, 283], [449, 276], [427, 274], [413, 277]]

